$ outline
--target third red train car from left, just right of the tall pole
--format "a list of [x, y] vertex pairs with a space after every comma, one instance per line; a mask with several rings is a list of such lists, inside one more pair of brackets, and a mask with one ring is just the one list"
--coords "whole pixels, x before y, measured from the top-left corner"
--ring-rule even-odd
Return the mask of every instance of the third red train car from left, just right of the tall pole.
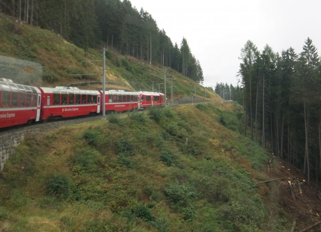
[[133, 109], [139, 108], [140, 102], [138, 92], [125, 92], [124, 90], [105, 91], [106, 112], [132, 111]]

